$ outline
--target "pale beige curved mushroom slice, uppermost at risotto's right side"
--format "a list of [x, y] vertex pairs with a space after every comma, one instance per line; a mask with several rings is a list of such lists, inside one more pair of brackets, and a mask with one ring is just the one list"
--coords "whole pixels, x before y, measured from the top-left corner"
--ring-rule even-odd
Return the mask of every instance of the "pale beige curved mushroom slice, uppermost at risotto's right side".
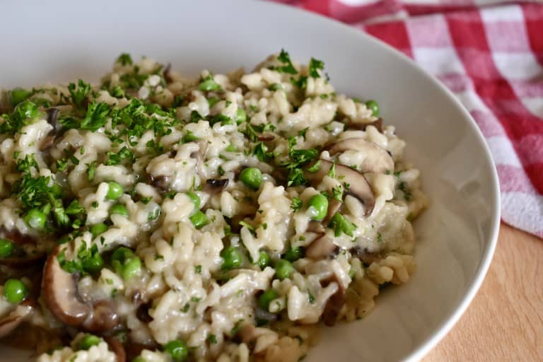
[[359, 151], [366, 154], [360, 165], [362, 173], [385, 173], [394, 170], [394, 160], [385, 148], [363, 138], [343, 139], [327, 146], [330, 156], [344, 151]]

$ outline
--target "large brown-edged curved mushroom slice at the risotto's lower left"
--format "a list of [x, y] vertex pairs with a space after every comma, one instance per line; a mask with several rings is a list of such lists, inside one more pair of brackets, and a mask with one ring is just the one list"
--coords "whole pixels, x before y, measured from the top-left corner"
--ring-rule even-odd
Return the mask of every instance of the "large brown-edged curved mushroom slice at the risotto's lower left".
[[[65, 256], [70, 257], [71, 250], [66, 247]], [[58, 256], [61, 245], [54, 247], [45, 262], [42, 296], [47, 308], [55, 317], [69, 326], [80, 326], [91, 315], [89, 305], [79, 300], [76, 278], [62, 269]]]

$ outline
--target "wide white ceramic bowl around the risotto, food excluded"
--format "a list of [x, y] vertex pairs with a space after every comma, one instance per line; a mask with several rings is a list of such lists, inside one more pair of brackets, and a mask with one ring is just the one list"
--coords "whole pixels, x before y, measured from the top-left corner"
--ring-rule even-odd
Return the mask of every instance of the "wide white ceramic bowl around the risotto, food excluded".
[[419, 359], [477, 292], [498, 234], [496, 170], [460, 103], [399, 52], [346, 25], [256, 1], [11, 1], [2, 15], [3, 87], [98, 80], [120, 52], [197, 74], [251, 69], [284, 48], [293, 59], [324, 60], [337, 91], [379, 101], [431, 198], [415, 223], [419, 268], [378, 296], [368, 317], [325, 329], [308, 361]]

